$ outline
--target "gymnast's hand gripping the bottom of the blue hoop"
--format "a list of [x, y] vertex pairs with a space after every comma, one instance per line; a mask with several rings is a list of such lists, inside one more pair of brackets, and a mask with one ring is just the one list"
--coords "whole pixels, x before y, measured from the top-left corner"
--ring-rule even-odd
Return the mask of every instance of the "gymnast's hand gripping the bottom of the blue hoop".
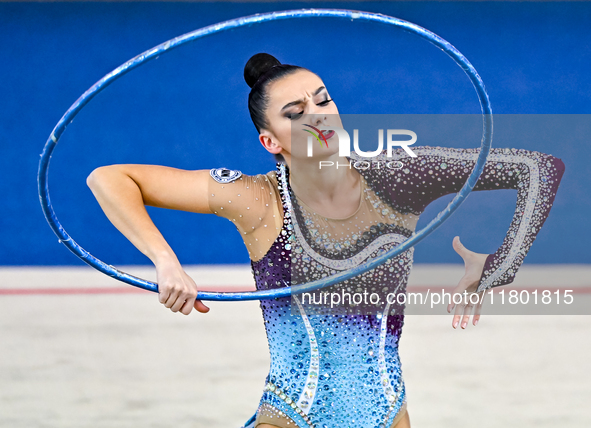
[[206, 313], [209, 308], [197, 297], [197, 285], [187, 275], [178, 262], [167, 262], [156, 265], [158, 275], [158, 299], [160, 303], [173, 312], [189, 315], [195, 308]]

